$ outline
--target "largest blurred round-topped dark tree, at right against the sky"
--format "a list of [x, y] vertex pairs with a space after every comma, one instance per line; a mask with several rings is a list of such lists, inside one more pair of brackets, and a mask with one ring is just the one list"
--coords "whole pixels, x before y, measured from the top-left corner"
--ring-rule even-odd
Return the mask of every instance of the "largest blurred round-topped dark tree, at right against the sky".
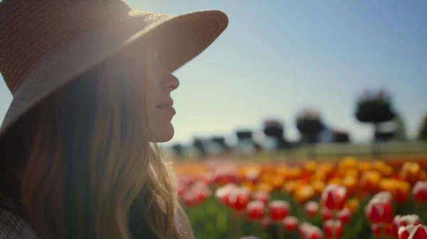
[[379, 130], [380, 123], [392, 121], [395, 113], [391, 105], [391, 97], [384, 89], [376, 92], [364, 91], [357, 101], [356, 118], [362, 123], [374, 125], [374, 140], [372, 152], [378, 154], [377, 141], [381, 138], [391, 138], [390, 132], [383, 133]]

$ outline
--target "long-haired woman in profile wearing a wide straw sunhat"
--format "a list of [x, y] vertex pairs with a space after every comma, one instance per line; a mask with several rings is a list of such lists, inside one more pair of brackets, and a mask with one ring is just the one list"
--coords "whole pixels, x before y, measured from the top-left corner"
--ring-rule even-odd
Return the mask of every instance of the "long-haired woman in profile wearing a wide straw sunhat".
[[227, 25], [119, 0], [2, 1], [0, 239], [193, 238], [156, 143], [174, 135], [172, 72]]

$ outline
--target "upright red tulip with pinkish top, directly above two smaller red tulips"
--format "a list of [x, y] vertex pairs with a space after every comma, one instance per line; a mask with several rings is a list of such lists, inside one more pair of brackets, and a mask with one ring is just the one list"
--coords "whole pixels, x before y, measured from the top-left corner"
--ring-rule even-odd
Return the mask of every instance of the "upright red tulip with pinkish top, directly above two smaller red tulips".
[[334, 184], [328, 185], [322, 192], [322, 204], [330, 210], [341, 210], [347, 201], [347, 189]]

